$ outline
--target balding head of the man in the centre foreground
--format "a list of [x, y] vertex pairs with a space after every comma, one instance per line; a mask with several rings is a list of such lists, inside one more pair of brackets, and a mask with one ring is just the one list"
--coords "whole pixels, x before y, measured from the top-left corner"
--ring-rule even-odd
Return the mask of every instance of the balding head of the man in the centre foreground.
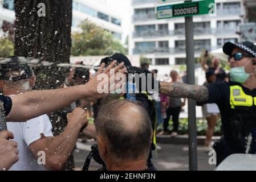
[[105, 100], [95, 125], [113, 160], [147, 159], [152, 127], [148, 112], [142, 105], [127, 100]]

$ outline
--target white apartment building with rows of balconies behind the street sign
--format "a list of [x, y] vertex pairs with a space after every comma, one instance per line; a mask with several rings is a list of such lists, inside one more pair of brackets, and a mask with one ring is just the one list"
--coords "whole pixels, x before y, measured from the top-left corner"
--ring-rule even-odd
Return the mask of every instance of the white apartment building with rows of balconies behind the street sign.
[[[147, 57], [153, 66], [185, 64], [185, 19], [157, 20], [157, 6], [156, 0], [132, 0], [129, 53]], [[237, 31], [245, 15], [243, 1], [216, 0], [216, 8], [216, 16], [193, 16], [196, 57], [203, 49], [211, 51], [225, 42], [239, 41]]]

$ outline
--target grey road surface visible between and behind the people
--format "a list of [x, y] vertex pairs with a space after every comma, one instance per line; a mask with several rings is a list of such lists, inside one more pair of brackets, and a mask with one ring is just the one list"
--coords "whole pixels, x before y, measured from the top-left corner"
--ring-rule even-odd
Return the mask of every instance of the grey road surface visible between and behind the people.
[[[86, 160], [87, 155], [91, 151], [91, 145], [95, 142], [88, 140], [86, 143], [77, 142], [75, 150], [75, 169], [81, 170], [84, 160]], [[189, 152], [188, 145], [185, 144], [158, 144], [160, 150], [157, 151], [157, 158], [153, 158], [153, 164], [159, 170], [189, 170]], [[198, 170], [213, 170], [214, 165], [209, 165], [208, 152], [204, 150], [204, 146], [197, 147], [197, 159], [198, 159]], [[90, 170], [97, 170], [100, 165], [94, 162], [92, 159]]]

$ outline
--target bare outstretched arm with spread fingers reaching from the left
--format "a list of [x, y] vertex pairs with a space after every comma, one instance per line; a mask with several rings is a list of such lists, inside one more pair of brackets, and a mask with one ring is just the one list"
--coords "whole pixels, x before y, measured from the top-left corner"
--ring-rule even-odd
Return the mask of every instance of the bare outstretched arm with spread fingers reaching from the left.
[[[7, 121], [26, 121], [31, 118], [38, 117], [39, 115], [51, 113], [52, 111], [61, 109], [65, 106], [70, 105], [74, 101], [86, 97], [105, 97], [107, 94], [99, 93], [97, 91], [97, 86], [101, 82], [101, 80], [99, 80], [97, 76], [99, 76], [100, 73], [105, 73], [109, 78], [109, 72], [113, 67], [115, 67], [116, 63], [116, 61], [113, 61], [104, 70], [104, 64], [102, 64], [96, 75], [86, 85], [72, 86], [70, 88], [55, 90], [39, 90], [34, 92], [27, 92], [24, 94], [18, 94], [14, 97], [11, 96], [13, 106], [9, 115], [7, 115]], [[123, 66], [124, 63], [117, 65], [114, 72], [126, 72], [126, 68], [123, 68]], [[110, 86], [111, 84], [108, 84], [109, 88]]]

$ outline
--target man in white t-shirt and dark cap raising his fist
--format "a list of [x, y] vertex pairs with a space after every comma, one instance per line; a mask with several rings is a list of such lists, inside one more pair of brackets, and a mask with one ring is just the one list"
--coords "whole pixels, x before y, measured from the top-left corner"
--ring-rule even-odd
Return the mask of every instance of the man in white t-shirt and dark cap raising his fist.
[[[3, 94], [10, 96], [31, 91], [35, 76], [31, 69], [25, 71], [26, 77], [20, 76], [22, 69], [10, 69], [5, 73], [6, 77], [12, 79], [0, 80]], [[69, 113], [67, 119], [66, 129], [56, 137], [52, 135], [52, 125], [47, 115], [27, 122], [7, 122], [7, 129], [13, 133], [19, 150], [19, 160], [9, 170], [60, 170], [74, 150], [80, 129], [88, 123], [82, 108]]]

